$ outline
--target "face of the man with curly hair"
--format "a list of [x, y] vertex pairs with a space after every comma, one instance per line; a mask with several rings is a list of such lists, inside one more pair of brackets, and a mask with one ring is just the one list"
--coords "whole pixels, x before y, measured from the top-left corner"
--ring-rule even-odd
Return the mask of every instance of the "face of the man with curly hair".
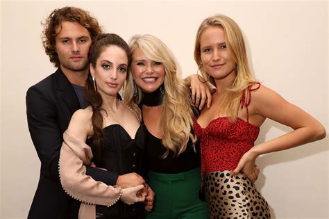
[[62, 22], [56, 29], [56, 52], [63, 72], [81, 72], [88, 68], [88, 51], [92, 38], [77, 22]]

